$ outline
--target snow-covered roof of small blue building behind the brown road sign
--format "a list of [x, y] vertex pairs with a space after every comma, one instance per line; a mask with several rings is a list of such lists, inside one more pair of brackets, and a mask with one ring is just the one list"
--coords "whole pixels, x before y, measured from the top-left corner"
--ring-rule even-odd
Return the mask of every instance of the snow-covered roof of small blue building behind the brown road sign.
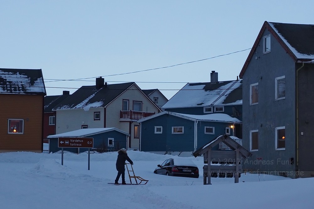
[[75, 131], [69, 131], [66, 133], [59, 133], [55, 135], [49, 135], [47, 138], [59, 138], [59, 137], [86, 137], [86, 136], [91, 136], [99, 133], [105, 133], [108, 131], [118, 131], [120, 133], [124, 133], [127, 136], [130, 136], [130, 134], [121, 131], [120, 129], [117, 128], [83, 128], [83, 129], [78, 129]]

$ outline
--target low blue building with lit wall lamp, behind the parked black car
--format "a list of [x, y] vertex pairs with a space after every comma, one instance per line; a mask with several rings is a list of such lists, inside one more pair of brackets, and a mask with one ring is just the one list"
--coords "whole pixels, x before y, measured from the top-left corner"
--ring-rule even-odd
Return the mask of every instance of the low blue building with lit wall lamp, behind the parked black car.
[[138, 123], [141, 124], [140, 151], [193, 152], [226, 130], [232, 136], [230, 127], [241, 121], [224, 113], [190, 115], [164, 111]]

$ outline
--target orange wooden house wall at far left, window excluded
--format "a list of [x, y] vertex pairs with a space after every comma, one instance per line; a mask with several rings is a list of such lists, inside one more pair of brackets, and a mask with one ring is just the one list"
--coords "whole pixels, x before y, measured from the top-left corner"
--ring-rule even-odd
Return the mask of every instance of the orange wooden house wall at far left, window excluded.
[[[43, 97], [0, 94], [0, 152], [42, 152]], [[24, 119], [24, 134], [8, 134], [8, 118]]]

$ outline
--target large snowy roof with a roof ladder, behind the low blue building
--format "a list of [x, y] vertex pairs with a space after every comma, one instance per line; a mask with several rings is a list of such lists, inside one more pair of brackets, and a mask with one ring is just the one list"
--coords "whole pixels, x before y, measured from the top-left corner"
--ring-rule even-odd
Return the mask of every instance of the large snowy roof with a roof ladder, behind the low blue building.
[[187, 83], [161, 108], [242, 105], [242, 81]]

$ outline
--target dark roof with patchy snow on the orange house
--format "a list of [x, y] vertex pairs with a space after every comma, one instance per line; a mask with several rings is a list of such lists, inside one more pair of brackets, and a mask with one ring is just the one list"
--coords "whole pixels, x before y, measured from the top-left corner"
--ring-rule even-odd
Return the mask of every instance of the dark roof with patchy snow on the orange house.
[[46, 95], [41, 69], [0, 68], [0, 93]]

